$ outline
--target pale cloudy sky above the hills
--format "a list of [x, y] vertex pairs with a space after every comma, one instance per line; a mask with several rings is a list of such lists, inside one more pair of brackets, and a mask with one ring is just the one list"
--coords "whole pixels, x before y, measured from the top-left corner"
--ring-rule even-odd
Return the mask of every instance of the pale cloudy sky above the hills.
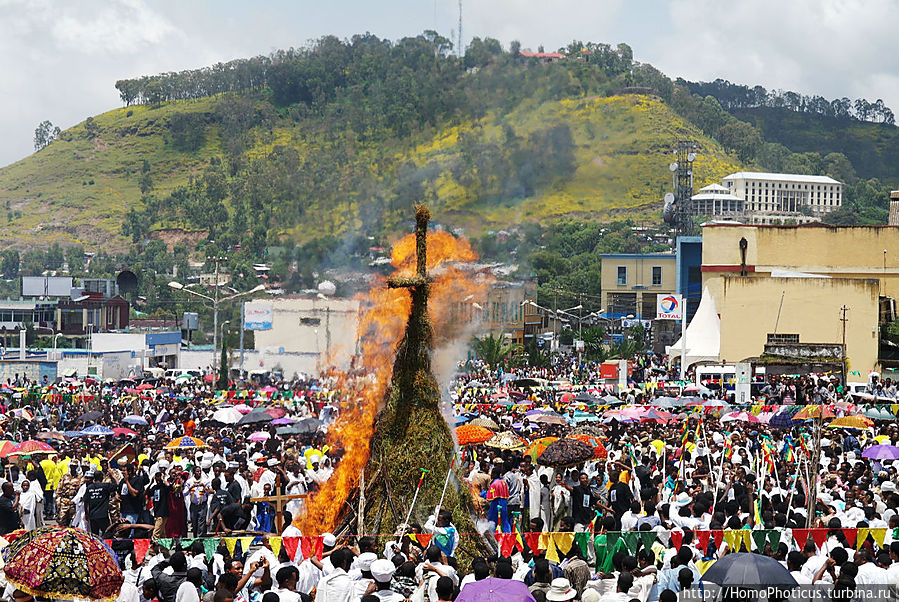
[[[547, 50], [626, 42], [669, 76], [899, 109], [894, 0], [463, 0], [463, 35]], [[454, 34], [458, 0], [0, 0], [0, 165], [119, 106], [115, 81], [302, 46], [326, 34]]]

